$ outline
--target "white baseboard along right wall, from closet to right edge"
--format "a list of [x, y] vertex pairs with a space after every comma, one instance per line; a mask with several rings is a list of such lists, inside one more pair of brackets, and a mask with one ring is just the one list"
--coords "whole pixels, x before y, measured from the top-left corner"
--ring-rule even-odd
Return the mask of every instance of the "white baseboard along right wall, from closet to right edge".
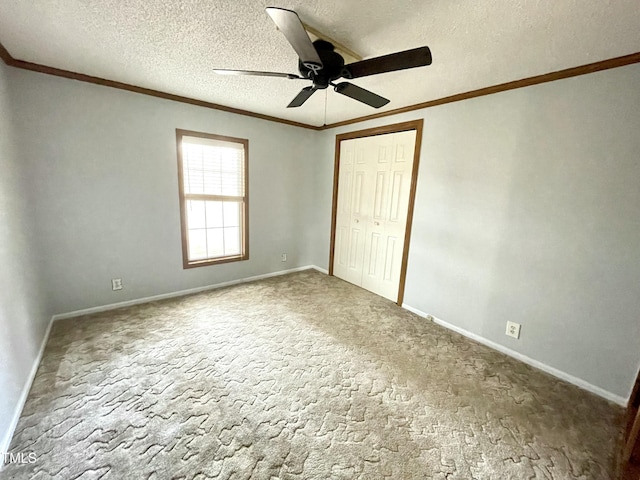
[[445, 322], [444, 320], [440, 320], [439, 318], [436, 318], [433, 315], [429, 315], [410, 305], [402, 304], [402, 308], [409, 310], [410, 312], [413, 312], [416, 315], [419, 315], [421, 317], [430, 318], [433, 320], [434, 323], [437, 323], [438, 325], [448, 328], [449, 330], [453, 330], [454, 332], [457, 332], [460, 335], [463, 335], [467, 338], [475, 340], [476, 342], [481, 343], [482, 345], [486, 345], [489, 348], [493, 348], [494, 350], [504, 353], [505, 355], [509, 355], [510, 357], [513, 357], [516, 360], [520, 360], [521, 362], [526, 363], [527, 365], [531, 365], [532, 367], [542, 370], [543, 372], [547, 372], [553, 375], [554, 377], [557, 377], [561, 380], [572, 383], [573, 385], [576, 385], [584, 390], [587, 390], [588, 392], [595, 393], [596, 395], [602, 398], [606, 398], [607, 400], [617, 403], [618, 405], [621, 405], [623, 407], [627, 406], [626, 398], [623, 398], [620, 395], [611, 393], [605, 390], [604, 388], [597, 387], [596, 385], [593, 385], [585, 380], [582, 380], [581, 378], [574, 377], [573, 375], [563, 372], [562, 370], [558, 370], [557, 368], [551, 367], [546, 363], [542, 363], [531, 357], [523, 355], [522, 353], [516, 352], [515, 350], [511, 350], [510, 348], [507, 348], [504, 345], [500, 345], [499, 343], [488, 340], [484, 337], [481, 337], [480, 335], [471, 333], [463, 328], [456, 327], [455, 325]]

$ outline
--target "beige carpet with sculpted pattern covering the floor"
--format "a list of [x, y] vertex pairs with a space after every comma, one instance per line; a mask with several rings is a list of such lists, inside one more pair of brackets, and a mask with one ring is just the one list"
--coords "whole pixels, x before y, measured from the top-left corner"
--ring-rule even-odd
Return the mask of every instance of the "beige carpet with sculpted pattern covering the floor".
[[609, 479], [622, 409], [315, 271], [55, 323], [15, 479]]

